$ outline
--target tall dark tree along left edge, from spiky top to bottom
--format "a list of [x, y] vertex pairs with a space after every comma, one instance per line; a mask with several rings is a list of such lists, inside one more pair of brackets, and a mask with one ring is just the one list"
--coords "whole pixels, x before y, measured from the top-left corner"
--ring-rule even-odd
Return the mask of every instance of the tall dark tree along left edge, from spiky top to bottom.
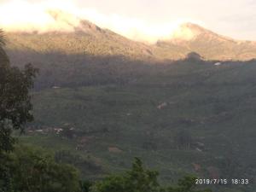
[[31, 64], [23, 70], [11, 67], [4, 49], [3, 32], [0, 30], [0, 191], [11, 191], [9, 153], [15, 139], [12, 131], [23, 130], [32, 121], [32, 103], [29, 90], [38, 72]]

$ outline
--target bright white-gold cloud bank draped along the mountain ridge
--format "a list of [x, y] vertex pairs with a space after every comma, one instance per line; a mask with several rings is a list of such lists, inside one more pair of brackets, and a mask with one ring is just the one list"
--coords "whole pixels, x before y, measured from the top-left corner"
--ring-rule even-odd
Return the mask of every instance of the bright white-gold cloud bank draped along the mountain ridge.
[[[183, 22], [201, 24], [201, 22], [191, 19], [151, 24], [145, 20], [127, 18], [117, 14], [102, 14], [96, 9], [79, 8], [73, 1], [68, 0], [39, 3], [13, 0], [0, 3], [0, 5], [0, 27], [7, 32], [73, 32], [74, 28], [79, 26], [80, 19], [84, 19], [117, 32], [126, 38], [154, 43], [160, 38], [171, 38], [172, 33], [177, 35], [177, 28]], [[61, 10], [65, 15], [62, 14], [61, 18], [57, 19], [53, 10]], [[181, 33], [179, 38], [182, 36]]]

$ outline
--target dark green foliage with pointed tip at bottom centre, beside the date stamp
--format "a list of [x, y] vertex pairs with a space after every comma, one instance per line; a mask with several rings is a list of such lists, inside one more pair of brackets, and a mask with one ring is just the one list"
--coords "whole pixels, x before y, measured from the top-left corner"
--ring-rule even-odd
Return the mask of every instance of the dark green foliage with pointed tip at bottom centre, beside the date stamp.
[[161, 187], [158, 182], [158, 172], [145, 169], [143, 162], [136, 158], [131, 171], [97, 182], [92, 187], [92, 192], [211, 192], [208, 189], [198, 189], [195, 185], [195, 178], [183, 177], [175, 187]]

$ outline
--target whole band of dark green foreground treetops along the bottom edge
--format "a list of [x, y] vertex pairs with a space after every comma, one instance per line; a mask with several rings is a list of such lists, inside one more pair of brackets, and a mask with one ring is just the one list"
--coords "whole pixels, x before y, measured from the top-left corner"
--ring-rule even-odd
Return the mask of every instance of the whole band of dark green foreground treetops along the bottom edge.
[[[8, 159], [9, 189], [1, 192], [208, 192], [195, 184], [196, 177], [183, 177], [177, 186], [161, 186], [158, 173], [143, 166], [135, 159], [131, 170], [111, 175], [100, 181], [79, 180], [73, 166], [57, 163], [53, 154], [42, 148], [16, 145], [5, 156]], [[1, 160], [3, 162], [3, 160]], [[6, 184], [6, 183], [2, 183]]]

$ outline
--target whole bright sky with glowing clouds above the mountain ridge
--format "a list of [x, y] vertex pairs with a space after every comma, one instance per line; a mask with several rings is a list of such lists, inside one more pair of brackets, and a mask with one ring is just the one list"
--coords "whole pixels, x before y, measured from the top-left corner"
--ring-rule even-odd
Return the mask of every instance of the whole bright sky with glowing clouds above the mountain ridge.
[[256, 40], [255, 0], [0, 0], [0, 27], [10, 31], [40, 23], [41, 28], [48, 25], [44, 31], [49, 25], [67, 30], [44, 15], [43, 8], [65, 9], [135, 40], [168, 36], [188, 21], [230, 38]]

